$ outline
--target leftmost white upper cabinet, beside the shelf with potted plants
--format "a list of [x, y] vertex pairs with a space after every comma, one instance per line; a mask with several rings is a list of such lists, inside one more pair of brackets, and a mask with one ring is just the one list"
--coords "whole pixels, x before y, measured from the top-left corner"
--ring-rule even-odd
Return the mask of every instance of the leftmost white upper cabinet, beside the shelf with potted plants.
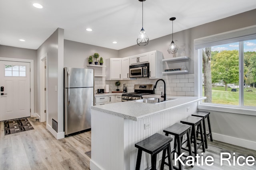
[[121, 80], [122, 59], [106, 59], [106, 80]]

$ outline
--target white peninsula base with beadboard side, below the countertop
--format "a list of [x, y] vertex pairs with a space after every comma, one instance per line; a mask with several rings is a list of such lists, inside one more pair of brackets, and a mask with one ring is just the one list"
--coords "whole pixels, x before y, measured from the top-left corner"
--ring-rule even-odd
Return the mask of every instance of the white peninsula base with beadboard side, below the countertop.
[[[189, 108], [189, 109], [187, 109]], [[197, 103], [168, 109], [160, 114], [132, 121], [115, 115], [92, 110], [92, 158], [91, 170], [132, 170], [135, 169], [138, 149], [135, 143], [154, 133], [163, 133], [163, 129], [180, 122], [196, 112]], [[144, 129], [144, 124], [150, 128]], [[171, 143], [173, 147], [173, 142]], [[157, 156], [158, 163], [162, 152]], [[150, 155], [143, 152], [140, 169], [151, 166]]]

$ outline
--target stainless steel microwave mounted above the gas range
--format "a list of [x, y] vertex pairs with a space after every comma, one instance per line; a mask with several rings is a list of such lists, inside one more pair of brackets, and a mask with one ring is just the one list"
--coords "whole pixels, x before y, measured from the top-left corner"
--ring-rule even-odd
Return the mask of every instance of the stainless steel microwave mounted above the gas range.
[[130, 66], [130, 78], [149, 77], [149, 63], [136, 64]]

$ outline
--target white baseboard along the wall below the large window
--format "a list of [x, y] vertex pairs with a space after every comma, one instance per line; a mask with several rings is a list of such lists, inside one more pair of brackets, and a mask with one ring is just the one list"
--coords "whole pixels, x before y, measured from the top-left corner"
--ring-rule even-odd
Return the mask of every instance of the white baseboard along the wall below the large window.
[[224, 142], [224, 143], [230, 143], [232, 145], [237, 145], [237, 146], [240, 146], [240, 147], [256, 150], [256, 142], [254, 142], [254, 141], [248, 141], [248, 140], [245, 140], [245, 139], [230, 137], [230, 136], [221, 135], [221, 134], [218, 134], [218, 133], [212, 133], [212, 137], [216, 141], [221, 141], [221, 142]]

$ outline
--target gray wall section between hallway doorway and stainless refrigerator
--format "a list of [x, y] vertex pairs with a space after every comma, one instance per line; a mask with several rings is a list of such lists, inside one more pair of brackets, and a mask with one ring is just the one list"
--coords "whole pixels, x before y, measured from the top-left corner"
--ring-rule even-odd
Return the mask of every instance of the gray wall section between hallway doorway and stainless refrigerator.
[[[38, 48], [38, 66], [40, 66], [40, 57], [48, 53], [47, 59], [47, 113], [46, 123], [52, 127], [52, 119], [58, 121], [58, 133], [64, 129], [63, 114], [63, 57], [64, 51], [64, 29], [58, 28], [44, 43]], [[38, 77], [40, 69], [38, 69]], [[38, 78], [38, 84], [40, 78]], [[57, 86], [57, 91], [55, 90]], [[38, 94], [40, 93], [38, 86]], [[38, 107], [40, 107], [40, 97], [38, 97]]]

